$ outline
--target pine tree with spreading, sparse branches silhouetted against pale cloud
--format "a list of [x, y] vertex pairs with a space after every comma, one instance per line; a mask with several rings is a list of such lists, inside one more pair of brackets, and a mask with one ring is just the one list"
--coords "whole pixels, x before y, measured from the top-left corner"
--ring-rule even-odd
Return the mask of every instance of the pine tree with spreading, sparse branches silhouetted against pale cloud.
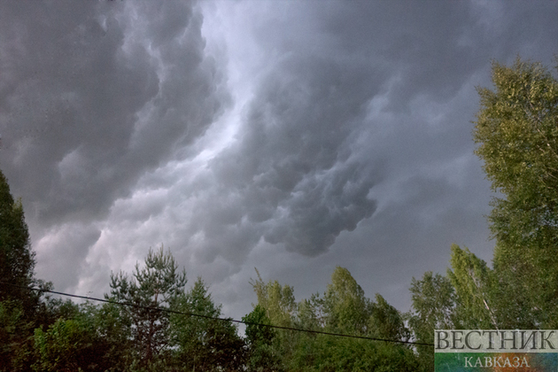
[[111, 275], [111, 296], [105, 298], [134, 306], [120, 306], [121, 322], [128, 323], [133, 348], [140, 367], [154, 365], [169, 353], [169, 315], [153, 308], [169, 308], [183, 295], [186, 272], [177, 272], [170, 252], [163, 247], [151, 249], [145, 258], [145, 267], [139, 263], [133, 277], [120, 272]]

